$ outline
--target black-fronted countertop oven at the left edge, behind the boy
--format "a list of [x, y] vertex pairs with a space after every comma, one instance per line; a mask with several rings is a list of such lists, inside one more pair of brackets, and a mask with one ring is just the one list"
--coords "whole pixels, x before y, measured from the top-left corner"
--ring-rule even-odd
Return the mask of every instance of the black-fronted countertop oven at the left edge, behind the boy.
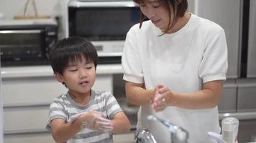
[[1, 66], [48, 64], [48, 51], [57, 40], [58, 24], [53, 19], [1, 20]]

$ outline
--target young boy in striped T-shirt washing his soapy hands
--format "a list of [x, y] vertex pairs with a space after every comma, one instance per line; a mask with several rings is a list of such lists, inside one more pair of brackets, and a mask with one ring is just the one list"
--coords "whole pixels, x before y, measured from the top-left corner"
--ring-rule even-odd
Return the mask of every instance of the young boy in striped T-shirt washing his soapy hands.
[[91, 89], [96, 79], [97, 51], [78, 36], [58, 41], [50, 64], [66, 94], [50, 105], [47, 129], [55, 142], [113, 142], [112, 133], [129, 132], [130, 123], [110, 92]]

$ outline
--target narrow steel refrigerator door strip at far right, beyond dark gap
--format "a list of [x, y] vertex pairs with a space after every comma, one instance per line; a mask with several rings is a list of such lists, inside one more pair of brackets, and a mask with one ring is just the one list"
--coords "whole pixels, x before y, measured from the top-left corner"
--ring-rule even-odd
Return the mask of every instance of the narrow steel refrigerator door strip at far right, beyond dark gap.
[[250, 1], [247, 77], [256, 77], [256, 1]]

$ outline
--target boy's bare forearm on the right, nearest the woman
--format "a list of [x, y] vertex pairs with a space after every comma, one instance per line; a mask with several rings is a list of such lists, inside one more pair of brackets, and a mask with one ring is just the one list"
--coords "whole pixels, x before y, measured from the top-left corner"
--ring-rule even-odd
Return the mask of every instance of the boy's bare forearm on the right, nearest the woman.
[[129, 132], [131, 129], [131, 124], [127, 115], [124, 112], [118, 112], [114, 115], [114, 118], [111, 119], [111, 123], [113, 124], [113, 133], [114, 134], [122, 134]]

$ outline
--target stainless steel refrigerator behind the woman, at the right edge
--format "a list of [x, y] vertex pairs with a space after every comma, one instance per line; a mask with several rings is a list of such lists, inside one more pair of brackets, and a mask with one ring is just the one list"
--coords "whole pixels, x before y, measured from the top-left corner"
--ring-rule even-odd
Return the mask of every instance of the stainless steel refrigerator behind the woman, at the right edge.
[[256, 142], [256, 1], [194, 0], [194, 13], [225, 30], [229, 69], [219, 119], [239, 119], [238, 142]]

